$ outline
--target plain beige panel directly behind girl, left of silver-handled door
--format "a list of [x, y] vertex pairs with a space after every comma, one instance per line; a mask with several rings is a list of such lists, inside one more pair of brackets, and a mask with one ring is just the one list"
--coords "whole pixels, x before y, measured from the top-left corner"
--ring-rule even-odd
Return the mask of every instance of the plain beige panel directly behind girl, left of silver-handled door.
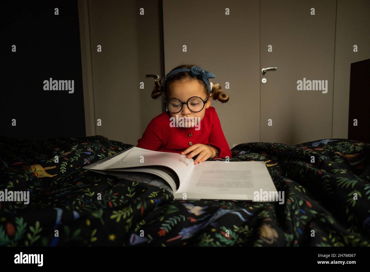
[[[225, 8], [231, 16], [225, 16]], [[183, 62], [211, 71], [216, 75], [211, 82], [220, 83], [229, 95], [225, 104], [211, 100], [229, 146], [258, 142], [258, 0], [164, 0], [163, 21], [166, 74]], [[187, 52], [182, 51], [183, 45]]]

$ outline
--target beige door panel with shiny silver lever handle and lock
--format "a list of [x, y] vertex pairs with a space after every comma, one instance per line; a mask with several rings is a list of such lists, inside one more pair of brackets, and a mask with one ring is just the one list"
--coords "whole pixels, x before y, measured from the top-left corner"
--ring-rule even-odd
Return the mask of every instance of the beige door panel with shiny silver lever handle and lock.
[[[260, 73], [267, 79], [261, 83], [261, 141], [298, 144], [331, 138], [336, 1], [260, 3], [260, 69], [278, 67]], [[310, 15], [312, 7], [316, 15]], [[299, 80], [323, 80], [327, 93], [297, 90]]]

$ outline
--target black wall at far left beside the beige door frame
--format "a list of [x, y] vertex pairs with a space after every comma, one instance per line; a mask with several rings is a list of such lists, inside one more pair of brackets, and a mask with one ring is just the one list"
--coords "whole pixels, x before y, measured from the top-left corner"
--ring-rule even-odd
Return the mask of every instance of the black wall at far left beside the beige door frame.
[[[10, 1], [1, 3], [0, 12], [0, 135], [85, 136], [77, 1]], [[74, 80], [74, 93], [44, 90], [49, 78]]]

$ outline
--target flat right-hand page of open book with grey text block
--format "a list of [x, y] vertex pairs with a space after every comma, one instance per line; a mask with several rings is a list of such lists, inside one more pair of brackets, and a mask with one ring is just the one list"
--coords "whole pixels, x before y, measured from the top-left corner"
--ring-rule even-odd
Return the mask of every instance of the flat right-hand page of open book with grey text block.
[[196, 164], [175, 197], [252, 200], [255, 191], [276, 191], [263, 161], [205, 161]]

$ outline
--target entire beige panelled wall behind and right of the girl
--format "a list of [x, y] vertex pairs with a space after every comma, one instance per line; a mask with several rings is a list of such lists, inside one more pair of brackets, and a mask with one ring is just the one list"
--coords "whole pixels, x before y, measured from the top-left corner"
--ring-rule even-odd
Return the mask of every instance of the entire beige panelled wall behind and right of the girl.
[[[347, 138], [349, 68], [351, 62], [369, 58], [369, 3], [164, 0], [165, 71], [193, 62], [216, 74], [212, 81], [223, 87], [230, 83], [225, 90], [229, 102], [212, 101], [230, 147]], [[351, 51], [357, 42], [361, 55]], [[187, 52], [182, 52], [184, 44]], [[260, 73], [270, 66], [278, 69]], [[263, 77], [266, 84], [260, 83]], [[328, 92], [298, 91], [297, 80], [303, 78], [327, 80]]]

